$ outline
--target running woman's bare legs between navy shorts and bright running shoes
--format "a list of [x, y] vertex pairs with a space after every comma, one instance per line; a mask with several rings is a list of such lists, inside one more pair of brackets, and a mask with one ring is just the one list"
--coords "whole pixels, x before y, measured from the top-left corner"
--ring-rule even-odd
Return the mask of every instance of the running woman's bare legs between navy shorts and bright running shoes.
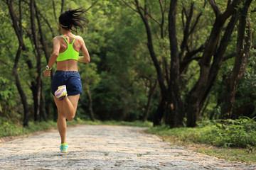
[[78, 108], [78, 100], [80, 94], [75, 96], [68, 96], [63, 101], [59, 101], [58, 98], [53, 96], [55, 104], [58, 108], [58, 131], [60, 132], [61, 143], [65, 143], [65, 135], [67, 131], [66, 118], [73, 120], [75, 112]]

